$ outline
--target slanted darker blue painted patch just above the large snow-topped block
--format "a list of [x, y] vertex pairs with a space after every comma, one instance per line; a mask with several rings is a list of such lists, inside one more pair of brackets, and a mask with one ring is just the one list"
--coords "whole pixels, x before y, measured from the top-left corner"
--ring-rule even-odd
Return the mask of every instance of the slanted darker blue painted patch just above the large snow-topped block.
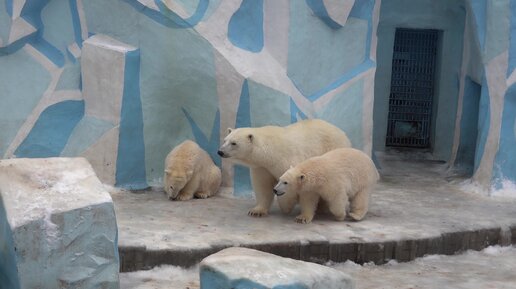
[[67, 100], [47, 107], [14, 154], [20, 158], [59, 156], [83, 115], [82, 100]]

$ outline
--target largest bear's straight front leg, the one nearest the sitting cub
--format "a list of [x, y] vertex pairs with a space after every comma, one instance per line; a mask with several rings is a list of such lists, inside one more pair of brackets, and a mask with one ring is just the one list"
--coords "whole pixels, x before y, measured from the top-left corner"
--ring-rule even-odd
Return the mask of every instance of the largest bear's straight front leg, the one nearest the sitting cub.
[[249, 210], [248, 215], [261, 217], [267, 215], [274, 200], [272, 192], [276, 178], [264, 168], [251, 168], [251, 184], [256, 195], [256, 206]]

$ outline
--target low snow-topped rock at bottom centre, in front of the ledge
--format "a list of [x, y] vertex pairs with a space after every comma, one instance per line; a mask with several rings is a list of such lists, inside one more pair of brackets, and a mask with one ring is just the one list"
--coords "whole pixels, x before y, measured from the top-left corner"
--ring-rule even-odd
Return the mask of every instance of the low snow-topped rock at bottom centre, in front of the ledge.
[[350, 276], [329, 267], [246, 248], [228, 248], [200, 264], [201, 289], [355, 288]]

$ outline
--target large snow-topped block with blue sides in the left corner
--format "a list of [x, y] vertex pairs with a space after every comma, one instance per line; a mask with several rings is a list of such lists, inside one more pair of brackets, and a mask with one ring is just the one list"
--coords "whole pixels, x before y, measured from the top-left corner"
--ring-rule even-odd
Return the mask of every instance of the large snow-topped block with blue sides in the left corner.
[[0, 288], [118, 288], [111, 196], [84, 158], [0, 160]]

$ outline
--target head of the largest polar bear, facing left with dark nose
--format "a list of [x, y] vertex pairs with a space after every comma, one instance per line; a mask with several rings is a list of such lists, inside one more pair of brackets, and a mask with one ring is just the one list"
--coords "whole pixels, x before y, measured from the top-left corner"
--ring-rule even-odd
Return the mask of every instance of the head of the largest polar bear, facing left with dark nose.
[[219, 156], [237, 160], [246, 159], [253, 151], [254, 136], [250, 128], [228, 128], [228, 136], [218, 150]]

